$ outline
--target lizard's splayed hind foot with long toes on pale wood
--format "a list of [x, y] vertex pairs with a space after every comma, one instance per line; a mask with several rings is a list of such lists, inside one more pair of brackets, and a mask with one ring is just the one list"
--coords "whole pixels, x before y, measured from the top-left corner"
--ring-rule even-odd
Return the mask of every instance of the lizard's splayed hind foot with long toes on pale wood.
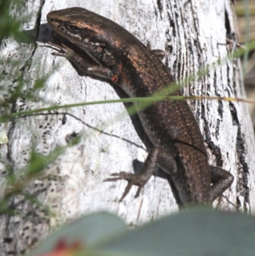
[[137, 174], [130, 174], [129, 172], [119, 172], [119, 173], [113, 173], [111, 176], [116, 177], [110, 177], [108, 179], [104, 179], [103, 181], [119, 181], [120, 179], [126, 179], [128, 181], [128, 185], [125, 188], [125, 191], [120, 198], [119, 202], [121, 202], [126, 195], [128, 195], [129, 190], [133, 185], [138, 186], [138, 190], [136, 192], [135, 198], [140, 195], [140, 192], [143, 188], [143, 185], [146, 183], [142, 180], [142, 178]]

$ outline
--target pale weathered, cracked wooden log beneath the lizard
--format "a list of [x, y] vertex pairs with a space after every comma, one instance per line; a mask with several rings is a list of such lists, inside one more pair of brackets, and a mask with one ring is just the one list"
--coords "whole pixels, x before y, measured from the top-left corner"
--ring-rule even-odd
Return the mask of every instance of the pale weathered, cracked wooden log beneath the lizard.
[[[226, 38], [229, 34], [237, 36], [230, 0], [27, 1], [25, 9], [17, 13], [32, 13], [22, 29], [33, 32], [36, 44], [4, 40], [1, 59], [11, 56], [20, 64], [16, 67], [6, 64], [2, 68], [13, 77], [15, 72], [22, 76], [26, 91], [38, 79], [46, 82], [34, 92], [36, 101], [18, 98], [12, 110], [119, 98], [110, 84], [81, 77], [71, 63], [52, 56], [52, 49], [45, 47], [51, 36], [45, 25], [47, 13], [72, 6], [112, 19], [143, 43], [150, 42], [152, 49], [164, 50], [163, 62], [176, 79], [187, 78], [200, 68], [224, 59], [234, 47], [234, 43], [227, 44]], [[17, 81], [3, 80], [1, 84], [6, 86], [8, 94]], [[184, 87], [184, 94], [245, 98], [240, 61], [235, 59], [215, 67], [205, 77]], [[214, 206], [254, 213], [254, 134], [247, 105], [215, 100], [189, 103], [200, 124], [210, 164], [221, 166], [235, 176], [231, 188]], [[44, 172], [47, 178], [31, 181], [24, 190], [43, 206], [50, 207], [54, 215], [28, 200], [24, 193], [11, 197], [9, 203], [15, 215], [1, 216], [0, 255], [20, 255], [55, 225], [85, 213], [105, 210], [129, 225], [141, 225], [178, 210], [168, 182], [160, 177], [152, 177], [138, 199], [134, 199], [136, 188], [132, 188], [121, 203], [126, 181], [102, 182], [112, 172], [134, 172], [147, 155], [137, 133], [140, 127], [137, 125], [135, 130], [127, 114], [117, 119], [125, 111], [122, 103], [91, 105], [52, 110], [1, 124], [2, 136], [8, 135], [8, 142], [2, 142], [0, 147], [2, 184], [6, 167], [11, 166], [18, 174], [29, 163], [32, 149], [46, 156], [56, 147], [67, 146], [70, 138], [82, 135], [82, 139], [47, 167]], [[4, 195], [6, 185], [2, 187]]]

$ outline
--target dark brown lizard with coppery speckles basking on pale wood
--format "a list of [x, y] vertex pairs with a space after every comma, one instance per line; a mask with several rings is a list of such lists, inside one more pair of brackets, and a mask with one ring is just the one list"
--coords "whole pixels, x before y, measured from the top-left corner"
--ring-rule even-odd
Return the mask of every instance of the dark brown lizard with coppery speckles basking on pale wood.
[[[63, 44], [55, 45], [59, 52], [54, 55], [66, 57], [85, 73], [111, 80], [130, 97], [151, 96], [175, 82], [156, 50], [112, 20], [83, 8], [68, 8], [51, 11], [47, 21], [57, 34], [85, 51], [94, 64]], [[180, 95], [180, 91], [173, 94]], [[139, 110], [138, 116], [152, 149], [138, 174], [120, 172], [107, 179], [128, 181], [120, 200], [133, 185], [138, 186], [138, 196], [157, 167], [169, 174], [182, 204], [208, 204], [231, 185], [229, 172], [208, 165], [203, 137], [187, 102], [154, 102]]]

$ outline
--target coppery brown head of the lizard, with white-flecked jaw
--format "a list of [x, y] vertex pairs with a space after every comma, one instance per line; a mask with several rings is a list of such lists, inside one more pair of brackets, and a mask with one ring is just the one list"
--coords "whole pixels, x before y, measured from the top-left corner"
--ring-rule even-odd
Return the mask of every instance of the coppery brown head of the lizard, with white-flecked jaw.
[[117, 47], [115, 31], [120, 26], [84, 8], [51, 11], [47, 15], [47, 21], [57, 34], [85, 50], [90, 56], [105, 48]]

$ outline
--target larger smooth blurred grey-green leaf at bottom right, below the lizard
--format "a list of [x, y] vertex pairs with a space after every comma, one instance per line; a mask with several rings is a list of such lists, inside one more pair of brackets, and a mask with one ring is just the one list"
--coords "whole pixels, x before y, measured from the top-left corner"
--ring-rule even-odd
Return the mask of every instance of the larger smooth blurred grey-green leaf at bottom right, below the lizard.
[[254, 256], [255, 219], [239, 213], [184, 211], [100, 248], [112, 255]]

